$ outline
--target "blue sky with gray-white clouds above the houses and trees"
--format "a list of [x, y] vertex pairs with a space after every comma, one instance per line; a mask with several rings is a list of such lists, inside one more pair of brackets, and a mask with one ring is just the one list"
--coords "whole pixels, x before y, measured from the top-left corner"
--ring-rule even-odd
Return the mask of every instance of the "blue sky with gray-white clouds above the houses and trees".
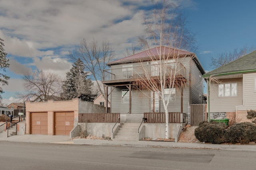
[[[196, 55], [206, 71], [212, 70], [211, 56], [256, 45], [255, 1], [181, 0], [180, 4], [196, 33]], [[106, 39], [116, 57], [124, 57], [142, 33], [141, 16], [150, 6], [151, 0], [0, 0], [0, 37], [10, 59], [6, 74], [11, 77], [3, 87], [3, 102], [15, 102], [26, 70], [52, 70], [64, 78], [72, 65], [68, 51], [83, 38]]]

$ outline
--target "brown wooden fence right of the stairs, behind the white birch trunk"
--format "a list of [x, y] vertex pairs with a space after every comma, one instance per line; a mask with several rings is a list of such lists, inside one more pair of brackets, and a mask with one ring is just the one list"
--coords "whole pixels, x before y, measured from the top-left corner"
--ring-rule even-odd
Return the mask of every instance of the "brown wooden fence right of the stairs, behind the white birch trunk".
[[[184, 123], [183, 114], [180, 112], [169, 112], [169, 123]], [[146, 123], [165, 123], [165, 113], [144, 113], [144, 117], [148, 120]]]

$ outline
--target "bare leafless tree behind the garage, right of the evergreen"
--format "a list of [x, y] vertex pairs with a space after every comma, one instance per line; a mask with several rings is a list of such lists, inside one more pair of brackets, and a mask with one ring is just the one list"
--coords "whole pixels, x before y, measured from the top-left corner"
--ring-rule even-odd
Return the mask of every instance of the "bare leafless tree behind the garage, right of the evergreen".
[[96, 80], [98, 89], [105, 100], [105, 88], [102, 90], [98, 81], [103, 79], [103, 70], [108, 67], [106, 64], [109, 63], [114, 56], [114, 49], [108, 41], [104, 40], [101, 44], [98, 44], [98, 41], [95, 39], [90, 43], [87, 43], [86, 39], [83, 39], [80, 45], [69, 53], [69, 57], [72, 61], [80, 59], [84, 63], [85, 71], [90, 72], [94, 80]]

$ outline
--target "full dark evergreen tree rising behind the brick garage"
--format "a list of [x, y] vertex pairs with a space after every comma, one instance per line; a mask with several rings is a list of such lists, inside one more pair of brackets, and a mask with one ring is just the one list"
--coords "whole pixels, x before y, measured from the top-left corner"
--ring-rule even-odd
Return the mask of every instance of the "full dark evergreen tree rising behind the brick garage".
[[62, 85], [63, 99], [71, 100], [80, 98], [83, 101], [92, 102], [95, 94], [92, 94], [93, 82], [88, 78], [88, 72], [84, 72], [84, 63], [78, 59], [66, 73], [66, 80]]

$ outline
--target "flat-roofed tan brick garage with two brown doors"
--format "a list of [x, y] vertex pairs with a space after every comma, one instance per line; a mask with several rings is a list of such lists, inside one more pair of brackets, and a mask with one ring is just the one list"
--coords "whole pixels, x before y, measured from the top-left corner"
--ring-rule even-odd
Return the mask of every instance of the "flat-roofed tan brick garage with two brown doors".
[[26, 134], [70, 135], [78, 113], [105, 113], [105, 107], [80, 99], [26, 102]]

